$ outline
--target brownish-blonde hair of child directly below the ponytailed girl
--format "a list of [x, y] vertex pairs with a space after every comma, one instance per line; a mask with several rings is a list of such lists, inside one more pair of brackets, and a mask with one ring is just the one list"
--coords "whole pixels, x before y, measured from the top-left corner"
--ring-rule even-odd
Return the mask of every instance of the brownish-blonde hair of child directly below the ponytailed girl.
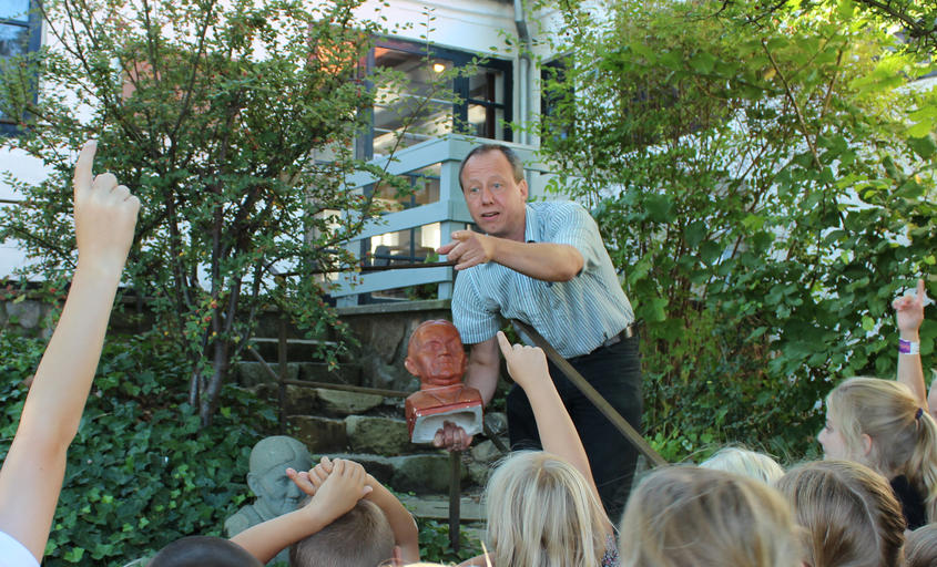
[[777, 482], [812, 567], [902, 565], [905, 518], [884, 476], [851, 461], [801, 465]]

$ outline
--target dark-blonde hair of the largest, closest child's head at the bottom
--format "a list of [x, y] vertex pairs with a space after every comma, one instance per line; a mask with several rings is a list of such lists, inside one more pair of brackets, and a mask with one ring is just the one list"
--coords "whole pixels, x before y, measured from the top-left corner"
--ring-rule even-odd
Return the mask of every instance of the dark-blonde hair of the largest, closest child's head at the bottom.
[[799, 567], [791, 507], [763, 482], [668, 466], [632, 492], [619, 534], [622, 567]]

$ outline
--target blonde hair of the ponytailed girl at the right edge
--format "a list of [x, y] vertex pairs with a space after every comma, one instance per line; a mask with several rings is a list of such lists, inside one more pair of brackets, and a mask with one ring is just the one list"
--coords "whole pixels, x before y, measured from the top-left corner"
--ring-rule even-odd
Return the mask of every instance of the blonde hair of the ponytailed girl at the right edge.
[[[849, 458], [892, 478], [905, 475], [937, 520], [937, 423], [910, 389], [892, 380], [851, 378], [826, 396], [827, 414]], [[873, 443], [868, 454], [863, 434]]]

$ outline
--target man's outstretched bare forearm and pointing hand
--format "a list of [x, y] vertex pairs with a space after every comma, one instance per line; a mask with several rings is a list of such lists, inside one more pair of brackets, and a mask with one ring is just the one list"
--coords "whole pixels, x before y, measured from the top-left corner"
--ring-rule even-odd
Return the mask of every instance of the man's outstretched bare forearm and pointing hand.
[[582, 271], [582, 254], [568, 244], [519, 243], [472, 230], [452, 233], [452, 241], [437, 250], [464, 270], [493, 261], [543, 281], [569, 281]]

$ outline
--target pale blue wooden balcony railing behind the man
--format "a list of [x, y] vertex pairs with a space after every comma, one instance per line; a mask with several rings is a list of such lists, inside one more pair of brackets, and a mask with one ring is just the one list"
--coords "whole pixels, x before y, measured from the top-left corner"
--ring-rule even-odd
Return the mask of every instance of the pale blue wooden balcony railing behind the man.
[[[439, 199], [432, 203], [415, 206], [404, 210], [387, 213], [379, 219], [368, 223], [354, 240], [347, 244], [348, 250], [358, 257], [370, 254], [370, 239], [381, 235], [428, 227], [439, 223], [439, 246], [450, 240], [454, 230], [464, 229], [472, 223], [462, 192], [459, 187], [459, 164], [468, 153], [479, 144], [491, 143], [490, 140], [476, 138], [465, 135], [449, 134], [444, 137], [428, 140], [397, 152], [391, 158], [379, 158], [373, 163], [395, 175], [416, 175], [427, 167], [439, 164]], [[502, 142], [499, 142], [502, 143]], [[548, 172], [536, 161], [534, 148], [520, 144], [503, 143], [510, 146], [524, 163], [524, 175], [531, 196], [543, 194], [546, 175]], [[348, 181], [352, 190], [368, 190], [375, 178], [359, 174]], [[413, 261], [408, 257], [408, 261]], [[366, 261], [387, 262], [394, 265], [394, 257], [378, 254], [366, 258]], [[452, 297], [452, 268], [409, 268], [391, 269], [379, 272], [353, 272], [338, 276], [338, 286], [332, 291], [339, 306], [358, 305], [359, 295], [376, 293], [410, 286], [437, 285], [439, 299]]]

